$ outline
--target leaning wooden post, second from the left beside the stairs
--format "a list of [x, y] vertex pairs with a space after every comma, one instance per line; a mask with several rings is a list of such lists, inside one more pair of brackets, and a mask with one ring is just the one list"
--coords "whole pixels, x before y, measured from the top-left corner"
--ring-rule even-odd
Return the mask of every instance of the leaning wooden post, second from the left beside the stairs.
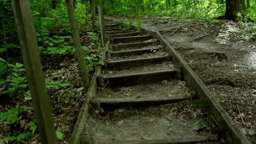
[[66, 4], [67, 4], [67, 13], [69, 15], [69, 22], [72, 28], [72, 36], [75, 44], [77, 60], [80, 66], [83, 86], [85, 88], [85, 93], [86, 93], [89, 88], [90, 81], [88, 77], [87, 66], [85, 64], [85, 59], [83, 56], [83, 50], [82, 50], [81, 40], [80, 40], [78, 28], [77, 28], [77, 22], [75, 20], [75, 10], [73, 6], [73, 0], [66, 0]]

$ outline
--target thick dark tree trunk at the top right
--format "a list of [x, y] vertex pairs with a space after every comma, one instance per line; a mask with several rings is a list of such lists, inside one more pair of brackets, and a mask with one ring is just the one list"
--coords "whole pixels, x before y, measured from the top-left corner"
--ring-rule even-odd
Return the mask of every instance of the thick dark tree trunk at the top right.
[[226, 0], [226, 19], [235, 20], [237, 13], [242, 13], [241, 0]]

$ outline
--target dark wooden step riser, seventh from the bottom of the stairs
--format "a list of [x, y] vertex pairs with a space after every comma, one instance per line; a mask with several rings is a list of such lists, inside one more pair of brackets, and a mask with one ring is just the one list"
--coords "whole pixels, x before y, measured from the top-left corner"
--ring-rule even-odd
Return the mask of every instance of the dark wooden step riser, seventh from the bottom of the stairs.
[[112, 37], [113, 44], [117, 43], [133, 43], [133, 42], [143, 42], [145, 40], [153, 39], [150, 35], [142, 35], [142, 36], [133, 36], [133, 37]]

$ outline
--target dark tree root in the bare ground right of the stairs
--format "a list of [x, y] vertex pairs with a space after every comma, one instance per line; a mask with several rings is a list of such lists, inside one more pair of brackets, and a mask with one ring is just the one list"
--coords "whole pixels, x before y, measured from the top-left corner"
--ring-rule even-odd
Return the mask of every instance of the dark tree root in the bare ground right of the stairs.
[[206, 82], [206, 84], [229, 85], [234, 88], [239, 87], [239, 85], [234, 80], [228, 77], [220, 77], [220, 78], [216, 78], [215, 80], [209, 80]]

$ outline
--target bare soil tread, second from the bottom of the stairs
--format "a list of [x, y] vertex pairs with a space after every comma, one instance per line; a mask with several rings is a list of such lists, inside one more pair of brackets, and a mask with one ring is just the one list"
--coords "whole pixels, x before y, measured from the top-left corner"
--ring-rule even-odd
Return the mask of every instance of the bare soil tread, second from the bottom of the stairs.
[[100, 98], [159, 98], [181, 96], [189, 97], [189, 89], [180, 80], [163, 80], [161, 83], [141, 84], [122, 88], [104, 88], [98, 91]]

